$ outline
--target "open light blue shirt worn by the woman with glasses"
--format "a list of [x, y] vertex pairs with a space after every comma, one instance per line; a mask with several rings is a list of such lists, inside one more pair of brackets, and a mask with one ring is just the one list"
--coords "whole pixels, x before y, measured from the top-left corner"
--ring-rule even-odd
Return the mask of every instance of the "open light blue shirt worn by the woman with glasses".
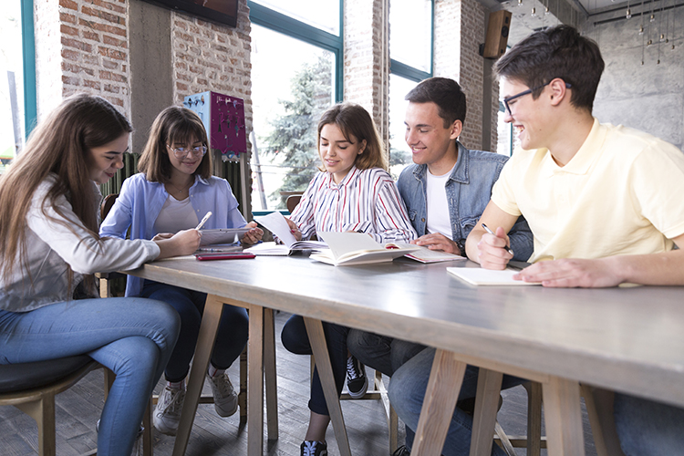
[[[168, 198], [163, 183], [150, 182], [141, 172], [130, 176], [123, 181], [117, 201], [99, 227], [99, 235], [125, 239], [130, 227], [130, 239], [151, 239], [154, 222]], [[247, 224], [238, 210], [231, 185], [225, 179], [212, 176], [204, 180], [196, 176], [190, 188], [190, 202], [198, 220], [212, 212], [204, 229], [242, 228]], [[141, 289], [142, 279], [129, 276], [126, 295], [140, 295]]]

